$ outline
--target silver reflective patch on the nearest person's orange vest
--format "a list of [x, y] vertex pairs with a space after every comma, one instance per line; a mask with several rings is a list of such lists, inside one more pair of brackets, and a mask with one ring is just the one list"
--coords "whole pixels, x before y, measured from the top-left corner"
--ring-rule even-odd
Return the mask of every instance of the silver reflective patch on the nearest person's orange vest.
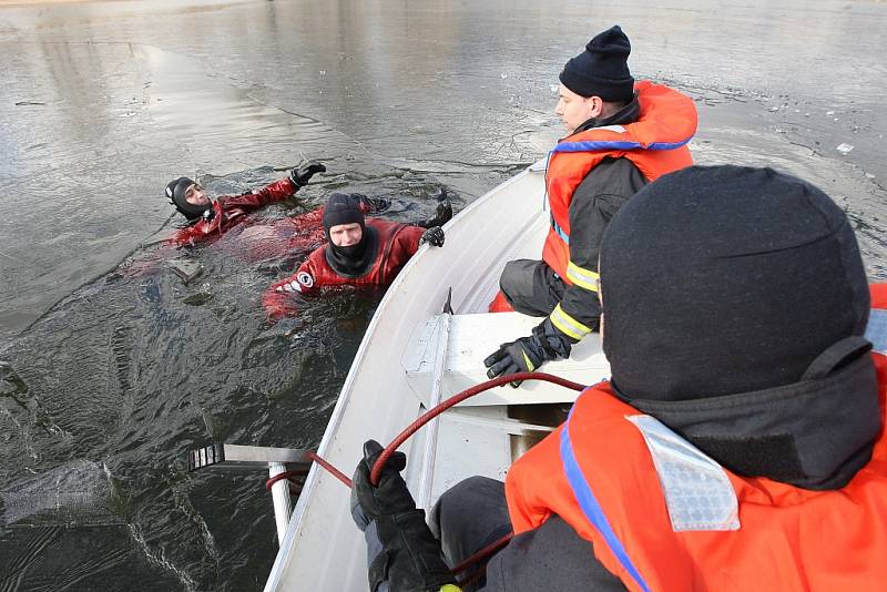
[[675, 532], [738, 530], [736, 492], [721, 466], [644, 415], [626, 416], [641, 430]]

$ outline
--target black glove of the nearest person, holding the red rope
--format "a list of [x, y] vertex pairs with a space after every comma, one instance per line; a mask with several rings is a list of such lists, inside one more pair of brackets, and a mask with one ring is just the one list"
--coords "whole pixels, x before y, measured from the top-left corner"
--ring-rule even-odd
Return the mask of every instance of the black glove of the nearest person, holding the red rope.
[[379, 484], [370, 483], [369, 473], [381, 451], [375, 440], [364, 443], [364, 459], [358, 462], [351, 483], [351, 513], [359, 508], [370, 524], [375, 523], [383, 547], [370, 559], [369, 589], [375, 592], [386, 580], [391, 592], [437, 591], [445, 584], [455, 584], [456, 578], [441, 558], [440, 543], [425, 522], [425, 512], [416, 509], [400, 477], [407, 457], [402, 452], [391, 455]]

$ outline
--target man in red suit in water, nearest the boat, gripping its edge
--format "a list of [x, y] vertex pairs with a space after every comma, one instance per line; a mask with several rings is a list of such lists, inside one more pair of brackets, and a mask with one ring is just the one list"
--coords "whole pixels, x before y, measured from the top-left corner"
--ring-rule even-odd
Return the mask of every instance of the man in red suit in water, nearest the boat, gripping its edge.
[[449, 202], [435, 217], [415, 224], [365, 218], [358, 194], [334, 193], [323, 215], [327, 243], [317, 247], [295, 274], [273, 284], [263, 297], [268, 316], [290, 313], [294, 294], [312, 294], [344, 285], [387, 286], [407, 261], [428, 243], [443, 246], [440, 227], [452, 217]]

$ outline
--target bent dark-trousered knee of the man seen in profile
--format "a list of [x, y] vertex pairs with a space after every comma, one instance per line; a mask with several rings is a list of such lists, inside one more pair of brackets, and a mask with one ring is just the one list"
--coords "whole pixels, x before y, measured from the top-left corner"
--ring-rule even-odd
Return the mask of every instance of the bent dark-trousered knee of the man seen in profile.
[[517, 259], [506, 264], [499, 288], [518, 313], [547, 317], [563, 299], [567, 284], [546, 262]]

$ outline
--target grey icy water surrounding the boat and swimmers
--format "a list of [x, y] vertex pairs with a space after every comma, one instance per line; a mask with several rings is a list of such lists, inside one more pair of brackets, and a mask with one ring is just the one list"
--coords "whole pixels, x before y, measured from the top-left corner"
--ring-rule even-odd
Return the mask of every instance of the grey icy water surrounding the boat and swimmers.
[[[184, 452], [315, 446], [378, 302], [267, 323], [261, 292], [304, 253], [262, 253], [262, 228], [332, 190], [400, 220], [441, 186], [462, 207], [544, 154], [557, 73], [613, 23], [636, 78], [696, 99], [697, 162], [820, 185], [887, 279], [884, 2], [0, 6], [0, 590], [261, 590], [263, 476], [187, 474]], [[170, 178], [241, 192], [303, 155], [329, 173], [248, 229], [159, 244]]]

